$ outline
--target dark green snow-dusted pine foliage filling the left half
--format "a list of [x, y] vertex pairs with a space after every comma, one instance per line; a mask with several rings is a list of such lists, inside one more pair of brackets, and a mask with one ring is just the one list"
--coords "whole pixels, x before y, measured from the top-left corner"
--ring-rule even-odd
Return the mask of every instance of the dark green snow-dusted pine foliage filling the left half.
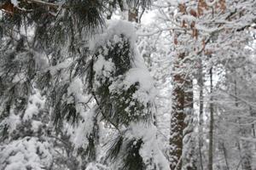
[[[51, 164], [40, 164], [40, 168], [84, 169], [90, 162], [98, 161], [100, 126], [104, 122], [116, 129], [119, 139], [113, 139], [108, 156], [99, 163], [108, 165], [111, 161], [117, 168], [127, 170], [161, 167], [159, 162], [154, 164], [153, 158], [149, 164], [154, 164], [154, 168], [146, 166], [148, 161], [143, 160], [140, 150], [148, 141], [143, 139], [144, 134], [131, 134], [131, 123], [154, 126], [154, 102], [140, 98], [152, 89], [144, 88], [141, 80], [129, 80], [131, 70], [139, 69], [135, 64], [134, 38], [127, 37], [125, 31], [113, 33], [103, 36], [103, 43], [96, 48], [90, 48], [90, 43], [97, 42], [90, 42], [92, 37], [100, 32], [104, 35], [108, 3], [121, 9], [125, 3], [137, 3], [143, 8], [149, 5], [149, 1], [100, 0], [1, 3], [0, 154], [7, 144], [37, 137], [38, 142], [54, 145], [48, 157]], [[34, 103], [33, 96], [44, 98], [44, 105]], [[89, 112], [92, 114], [87, 120]], [[15, 125], [9, 124], [12, 116], [18, 119]], [[75, 149], [67, 125], [72, 124], [75, 129], [84, 121], [91, 126], [84, 129], [84, 144]], [[155, 133], [152, 138], [156, 138]], [[59, 150], [64, 153], [62, 158]], [[155, 150], [152, 151], [160, 152]], [[73, 159], [75, 154], [82, 160]], [[124, 160], [119, 156], [124, 156]], [[73, 165], [65, 161], [68, 158]], [[3, 168], [9, 163], [11, 166], [8, 159], [7, 156], [3, 160]], [[30, 168], [29, 163], [26, 168]]]

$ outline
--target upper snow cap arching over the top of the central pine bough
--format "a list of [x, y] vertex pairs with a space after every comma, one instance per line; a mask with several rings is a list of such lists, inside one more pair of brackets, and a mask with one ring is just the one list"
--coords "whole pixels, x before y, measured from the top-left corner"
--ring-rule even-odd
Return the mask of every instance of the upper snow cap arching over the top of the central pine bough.
[[[125, 73], [125, 80], [119, 82], [113, 82], [109, 87], [110, 91], [115, 91], [117, 88], [128, 89], [131, 85], [139, 82], [139, 87], [137, 93], [134, 97], [140, 99], [145, 105], [147, 105], [148, 100], [154, 99], [154, 81], [150, 77], [146, 65], [144, 64], [143, 57], [138, 53], [135, 47], [136, 41], [136, 31], [131, 23], [126, 21], [112, 21], [108, 23], [108, 29], [106, 33], [96, 37], [90, 45], [90, 50], [95, 51], [96, 48], [103, 47], [99, 50], [100, 54], [97, 55], [96, 63], [94, 64], [94, 71], [96, 71], [96, 76], [110, 77], [111, 72], [115, 69], [114, 64], [111, 59], [104, 59], [102, 54], [108, 54], [108, 50], [105, 48], [106, 42], [110, 42], [113, 39], [113, 43], [120, 42], [120, 35], [125, 35], [128, 37], [131, 43], [131, 63], [132, 68]], [[111, 44], [108, 46], [111, 47]], [[98, 84], [100, 85], [100, 84]]]

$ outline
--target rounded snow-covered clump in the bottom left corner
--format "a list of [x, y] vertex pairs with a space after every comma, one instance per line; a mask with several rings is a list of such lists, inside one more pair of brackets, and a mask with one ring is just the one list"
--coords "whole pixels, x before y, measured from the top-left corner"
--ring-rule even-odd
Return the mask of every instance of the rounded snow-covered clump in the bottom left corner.
[[41, 142], [35, 137], [15, 140], [6, 146], [0, 145], [0, 169], [26, 170], [32, 167], [43, 170], [49, 167], [52, 156], [47, 142]]

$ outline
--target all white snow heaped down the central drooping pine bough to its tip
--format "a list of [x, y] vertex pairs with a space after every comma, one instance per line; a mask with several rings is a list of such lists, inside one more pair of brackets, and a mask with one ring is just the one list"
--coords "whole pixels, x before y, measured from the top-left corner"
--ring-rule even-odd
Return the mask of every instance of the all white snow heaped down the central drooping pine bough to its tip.
[[[106, 60], [104, 55], [108, 55], [108, 49], [106, 49], [106, 44], [108, 47], [112, 47], [113, 44], [117, 44], [121, 41], [120, 36], [123, 35], [125, 38], [128, 38], [130, 42], [130, 61], [131, 69], [126, 71], [123, 75], [118, 77], [112, 77], [111, 73], [114, 71], [114, 67], [119, 65], [114, 65], [111, 59]], [[140, 115], [145, 116], [151, 114], [153, 120], [153, 111], [154, 110], [154, 98], [156, 96], [156, 90], [154, 88], [154, 80], [150, 76], [146, 65], [144, 64], [143, 57], [139, 54], [136, 45], [136, 32], [131, 23], [126, 21], [112, 21], [108, 23], [108, 28], [105, 33], [102, 33], [98, 37], [94, 38], [90, 42], [90, 50], [92, 53], [99, 53], [96, 57], [96, 62], [94, 64], [94, 71], [96, 72], [96, 77], [100, 80], [102, 78], [111, 78], [111, 85], [108, 87], [110, 94], [120, 94], [122, 90], [127, 90], [131, 86], [138, 83], [136, 87], [137, 90], [132, 94], [132, 98], [135, 101], [138, 101], [141, 105], [144, 106], [143, 111], [137, 113], [130, 113], [131, 107], [135, 105], [134, 102], [131, 102], [125, 111], [129, 116]], [[100, 82], [97, 82], [97, 86], [101, 86]], [[125, 101], [125, 98], [124, 98]], [[126, 101], [125, 101], [126, 102]], [[149, 104], [149, 105], [148, 105]], [[152, 108], [148, 108], [152, 107]], [[87, 119], [88, 120], [88, 119]], [[86, 127], [87, 128], [87, 127]], [[157, 140], [157, 128], [153, 123], [143, 123], [143, 122], [130, 122], [129, 127], [122, 127], [122, 131], [125, 131], [125, 138], [127, 139], [143, 139], [143, 146], [140, 150], [140, 155], [143, 157], [143, 161], [148, 165], [149, 161], [154, 161], [159, 169], [167, 170], [169, 169], [168, 161], [166, 156], [162, 154], [160, 150], [159, 143]], [[82, 130], [83, 131], [83, 130]], [[84, 130], [85, 131], [85, 130]], [[84, 139], [78, 139], [82, 141]], [[119, 162], [117, 162], [119, 163]], [[151, 165], [148, 165], [150, 169]], [[152, 165], [154, 167], [154, 165]], [[113, 166], [114, 167], [114, 166]], [[118, 166], [117, 166], [118, 167]]]

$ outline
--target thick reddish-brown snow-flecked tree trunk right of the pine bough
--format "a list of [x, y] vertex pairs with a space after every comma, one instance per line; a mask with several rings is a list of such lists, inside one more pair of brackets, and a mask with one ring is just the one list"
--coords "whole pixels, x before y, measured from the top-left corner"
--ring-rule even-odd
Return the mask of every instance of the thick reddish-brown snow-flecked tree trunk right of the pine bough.
[[[180, 14], [185, 14], [181, 8], [179, 10]], [[183, 41], [183, 38], [189, 35], [182, 31], [174, 31], [174, 34], [176, 55], [172, 67], [170, 168], [171, 170], [195, 169], [195, 144], [191, 142], [193, 140], [193, 75], [188, 72], [192, 61], [184, 59], [190, 52], [184, 48], [188, 42]]]

